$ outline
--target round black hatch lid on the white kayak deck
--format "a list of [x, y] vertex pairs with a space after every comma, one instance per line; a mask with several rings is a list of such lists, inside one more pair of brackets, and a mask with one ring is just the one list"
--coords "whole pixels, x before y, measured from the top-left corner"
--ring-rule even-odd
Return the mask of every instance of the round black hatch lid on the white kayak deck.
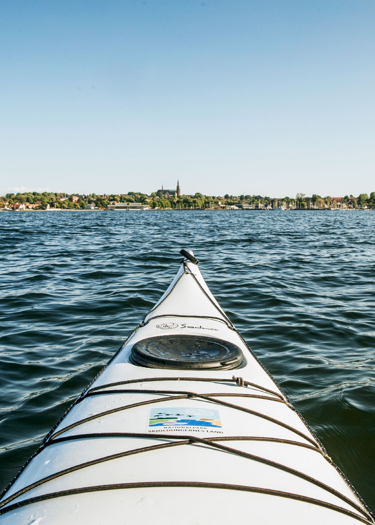
[[131, 349], [131, 361], [150, 368], [230, 370], [241, 366], [243, 358], [235, 344], [204, 335], [159, 335]]

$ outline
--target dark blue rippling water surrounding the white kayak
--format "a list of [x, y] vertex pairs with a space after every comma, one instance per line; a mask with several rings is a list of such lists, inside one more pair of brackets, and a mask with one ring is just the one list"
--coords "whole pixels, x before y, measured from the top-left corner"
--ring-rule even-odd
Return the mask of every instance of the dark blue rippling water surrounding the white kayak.
[[192, 249], [214, 296], [375, 511], [375, 213], [4, 212], [0, 485]]

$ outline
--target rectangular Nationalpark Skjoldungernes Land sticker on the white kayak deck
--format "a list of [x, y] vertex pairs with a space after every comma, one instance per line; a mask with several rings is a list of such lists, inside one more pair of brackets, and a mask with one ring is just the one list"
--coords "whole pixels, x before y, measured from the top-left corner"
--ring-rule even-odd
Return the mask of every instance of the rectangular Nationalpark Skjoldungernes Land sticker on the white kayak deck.
[[222, 434], [218, 410], [206, 408], [151, 408], [148, 432], [210, 432]]

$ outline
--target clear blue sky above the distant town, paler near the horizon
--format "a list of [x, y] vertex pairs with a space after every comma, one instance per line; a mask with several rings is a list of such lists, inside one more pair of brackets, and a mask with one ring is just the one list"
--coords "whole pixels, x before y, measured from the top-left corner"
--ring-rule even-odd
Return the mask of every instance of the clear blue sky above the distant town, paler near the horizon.
[[2, 0], [0, 194], [375, 191], [374, 23], [373, 0]]

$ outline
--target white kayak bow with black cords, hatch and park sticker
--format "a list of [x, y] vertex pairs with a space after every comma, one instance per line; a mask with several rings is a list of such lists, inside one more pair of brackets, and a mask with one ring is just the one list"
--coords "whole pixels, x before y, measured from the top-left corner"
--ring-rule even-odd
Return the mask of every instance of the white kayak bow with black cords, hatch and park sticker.
[[375, 523], [192, 251], [0, 498], [0, 525]]

